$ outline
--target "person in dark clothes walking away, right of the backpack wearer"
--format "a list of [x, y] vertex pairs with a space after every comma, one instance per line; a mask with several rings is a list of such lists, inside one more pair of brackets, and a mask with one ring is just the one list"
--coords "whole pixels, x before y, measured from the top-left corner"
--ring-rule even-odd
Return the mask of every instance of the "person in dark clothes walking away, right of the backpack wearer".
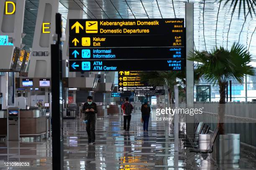
[[148, 132], [148, 122], [150, 117], [150, 105], [148, 104], [148, 101], [144, 99], [143, 104], [141, 105], [141, 117], [143, 120], [143, 131]]

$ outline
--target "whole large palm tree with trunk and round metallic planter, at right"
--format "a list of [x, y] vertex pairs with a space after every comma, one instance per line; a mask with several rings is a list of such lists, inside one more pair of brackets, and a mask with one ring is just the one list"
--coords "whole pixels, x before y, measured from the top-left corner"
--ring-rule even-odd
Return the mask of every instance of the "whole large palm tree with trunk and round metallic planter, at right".
[[220, 100], [218, 107], [219, 137], [216, 143], [215, 156], [218, 163], [238, 163], [240, 160], [240, 134], [225, 134], [225, 94], [226, 82], [235, 79], [243, 82], [245, 75], [254, 75], [249, 63], [251, 55], [243, 45], [233, 43], [230, 50], [224, 47], [209, 51], [194, 51], [188, 60], [198, 62], [197, 70], [204, 79], [219, 85]]

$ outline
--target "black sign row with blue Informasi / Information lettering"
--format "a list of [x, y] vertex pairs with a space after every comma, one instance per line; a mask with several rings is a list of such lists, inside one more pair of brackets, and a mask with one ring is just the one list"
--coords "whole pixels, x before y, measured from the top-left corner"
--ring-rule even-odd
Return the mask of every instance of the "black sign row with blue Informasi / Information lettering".
[[184, 47], [69, 48], [70, 60], [180, 59], [184, 54]]

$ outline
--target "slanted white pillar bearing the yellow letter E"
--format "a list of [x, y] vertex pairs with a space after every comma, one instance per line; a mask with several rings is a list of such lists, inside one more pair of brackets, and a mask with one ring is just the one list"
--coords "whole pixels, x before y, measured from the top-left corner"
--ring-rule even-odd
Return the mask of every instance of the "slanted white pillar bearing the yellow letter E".
[[[28, 77], [51, 77], [51, 44], [55, 34], [55, 14], [58, 13], [59, 0], [40, 0], [36, 18], [36, 28], [33, 38], [32, 54], [28, 70]], [[44, 25], [43, 23], [50, 23]], [[49, 32], [49, 33], [48, 33]], [[38, 52], [36, 55], [35, 53]], [[43, 52], [43, 56], [41, 55]], [[47, 55], [48, 56], [44, 56]]]

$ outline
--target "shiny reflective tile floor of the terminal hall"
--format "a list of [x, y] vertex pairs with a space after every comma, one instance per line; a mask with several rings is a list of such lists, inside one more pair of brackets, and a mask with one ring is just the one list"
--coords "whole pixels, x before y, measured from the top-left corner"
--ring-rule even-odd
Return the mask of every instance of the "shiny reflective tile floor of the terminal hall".
[[[141, 114], [132, 115], [130, 132], [123, 131], [121, 115], [108, 120], [97, 120], [96, 144], [87, 145], [85, 124], [77, 120], [64, 120], [65, 170], [176, 170], [217, 169], [218, 165], [201, 162], [198, 155], [184, 160], [184, 149], [174, 152], [172, 128], [167, 121], [150, 118], [149, 132], [143, 133]], [[33, 170], [51, 170], [51, 140], [0, 144], [0, 160], [30, 161]], [[199, 160], [199, 161], [198, 161]], [[220, 169], [255, 169], [256, 158], [241, 154], [239, 165]], [[0, 168], [1, 169], [1, 168]], [[8, 168], [2, 168], [3, 170]], [[10, 168], [10, 170], [19, 168]]]

